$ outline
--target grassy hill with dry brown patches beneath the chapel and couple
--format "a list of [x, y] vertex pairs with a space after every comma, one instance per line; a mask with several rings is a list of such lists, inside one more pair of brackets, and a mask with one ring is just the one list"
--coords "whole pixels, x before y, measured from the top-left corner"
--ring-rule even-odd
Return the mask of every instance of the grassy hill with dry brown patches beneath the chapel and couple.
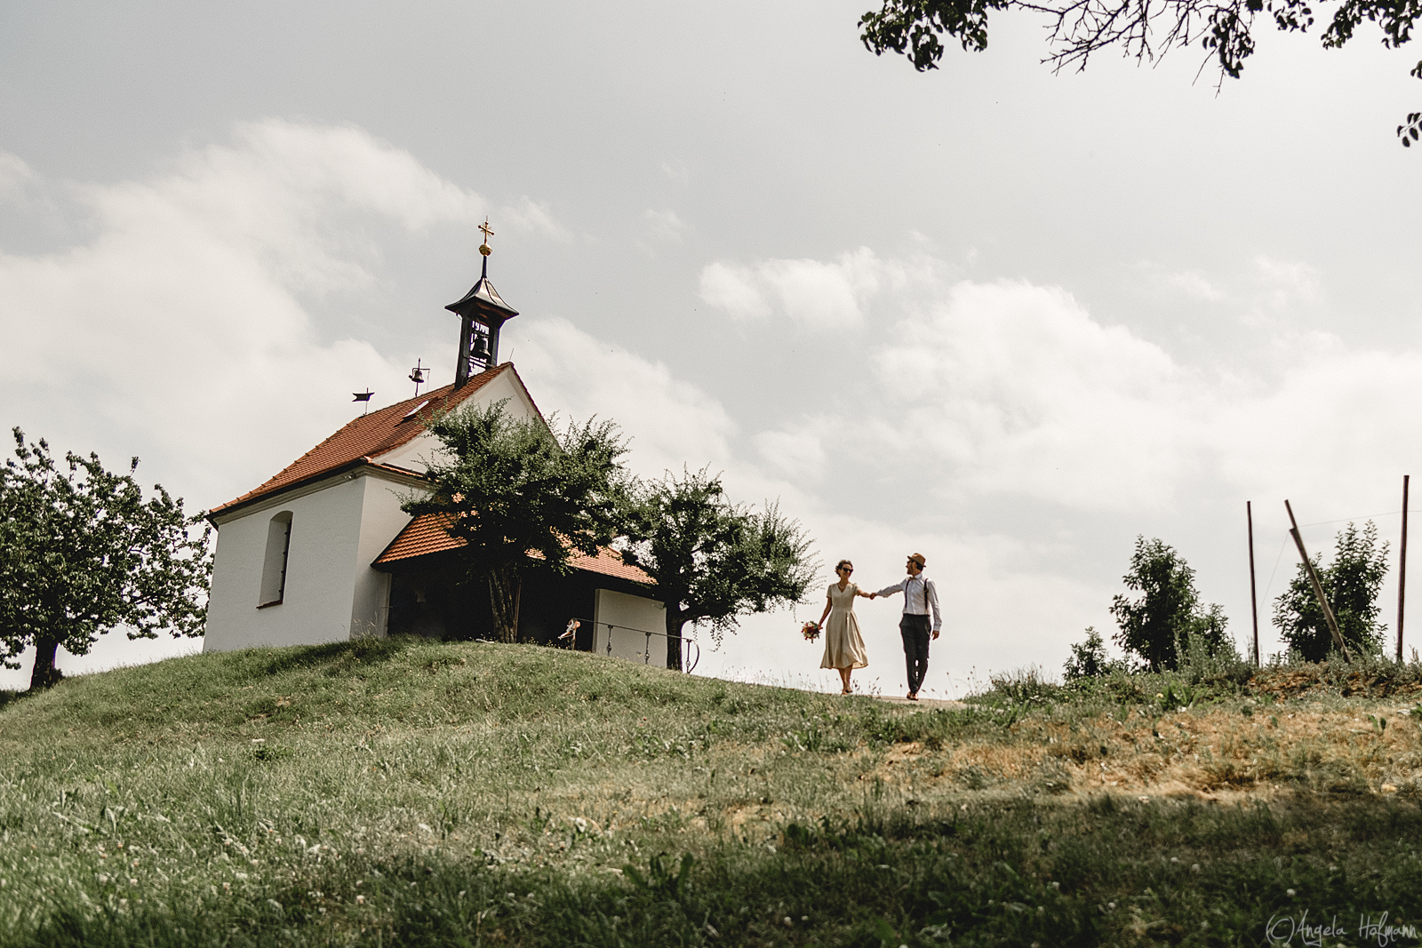
[[0, 704], [0, 945], [1382, 944], [1415, 678], [917, 711], [522, 645], [172, 659]]

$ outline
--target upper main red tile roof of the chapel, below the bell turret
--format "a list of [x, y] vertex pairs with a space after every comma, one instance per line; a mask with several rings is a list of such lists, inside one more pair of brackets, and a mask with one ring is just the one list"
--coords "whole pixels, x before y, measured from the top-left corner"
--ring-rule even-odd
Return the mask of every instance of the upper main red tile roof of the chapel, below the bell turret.
[[330, 473], [361, 458], [375, 458], [394, 451], [424, 432], [424, 422], [431, 415], [445, 408], [454, 408], [505, 370], [513, 371], [513, 364], [503, 362], [485, 372], [479, 372], [465, 382], [462, 388], [456, 389], [454, 385], [445, 385], [444, 388], [437, 388], [424, 395], [395, 402], [388, 408], [381, 408], [377, 412], [357, 418], [283, 468], [280, 473], [270, 478], [262, 486], [219, 507], [213, 507], [208, 512], [208, 516], [223, 513], [225, 510], [242, 506], [269, 493], [276, 493], [303, 480]]

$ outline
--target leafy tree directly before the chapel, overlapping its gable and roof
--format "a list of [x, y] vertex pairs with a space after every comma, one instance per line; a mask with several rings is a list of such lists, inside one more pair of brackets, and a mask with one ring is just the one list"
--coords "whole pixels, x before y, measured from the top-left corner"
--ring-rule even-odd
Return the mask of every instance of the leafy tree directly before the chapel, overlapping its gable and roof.
[[445, 458], [428, 469], [432, 490], [401, 509], [444, 515], [471, 580], [489, 584], [501, 641], [518, 641], [522, 570], [535, 559], [566, 574], [576, 553], [593, 556], [621, 534], [630, 478], [627, 452], [613, 422], [515, 419], [505, 402], [439, 415], [429, 431]]

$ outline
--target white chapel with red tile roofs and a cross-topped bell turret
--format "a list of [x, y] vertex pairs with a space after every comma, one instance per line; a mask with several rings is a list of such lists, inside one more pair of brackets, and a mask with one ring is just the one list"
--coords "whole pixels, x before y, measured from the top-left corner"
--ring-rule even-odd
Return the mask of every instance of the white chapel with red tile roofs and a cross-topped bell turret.
[[[401, 632], [492, 637], [488, 590], [459, 581], [458, 542], [435, 519], [400, 509], [401, 496], [424, 489], [427, 459], [439, 451], [425, 429], [435, 412], [503, 401], [515, 415], [543, 418], [513, 364], [498, 361], [499, 330], [518, 311], [489, 283], [488, 237], [479, 252], [479, 281], [445, 307], [461, 320], [452, 385], [353, 419], [208, 512], [218, 550], [203, 651]], [[569, 576], [525, 573], [519, 640], [550, 642], [579, 620], [576, 648], [663, 664], [664, 610], [646, 576], [610, 550], [573, 566]]]

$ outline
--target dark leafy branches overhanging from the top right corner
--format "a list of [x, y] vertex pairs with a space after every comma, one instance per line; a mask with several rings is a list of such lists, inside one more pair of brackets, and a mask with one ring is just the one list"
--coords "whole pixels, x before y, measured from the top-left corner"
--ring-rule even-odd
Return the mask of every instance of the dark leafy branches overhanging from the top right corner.
[[[1254, 18], [1284, 33], [1307, 33], [1315, 24], [1317, 0], [882, 0], [879, 10], [859, 18], [860, 40], [882, 55], [909, 57], [916, 70], [937, 68], [943, 57], [940, 37], [957, 40], [964, 50], [987, 48], [991, 10], [1030, 10], [1048, 24], [1047, 61], [1055, 68], [1086, 68], [1094, 53], [1118, 47], [1138, 61], [1155, 61], [1176, 47], [1197, 45], [1219, 63], [1220, 80], [1239, 78], [1244, 60], [1254, 53]], [[1416, 0], [1341, 0], [1322, 30], [1325, 48], [1341, 47], [1364, 20], [1382, 30], [1382, 45], [1395, 48], [1412, 38], [1422, 16]], [[1267, 28], [1267, 26], [1266, 26]], [[1422, 63], [1412, 68], [1422, 78]], [[1398, 138], [1412, 145], [1422, 135], [1422, 112], [1412, 112], [1398, 126]]]

